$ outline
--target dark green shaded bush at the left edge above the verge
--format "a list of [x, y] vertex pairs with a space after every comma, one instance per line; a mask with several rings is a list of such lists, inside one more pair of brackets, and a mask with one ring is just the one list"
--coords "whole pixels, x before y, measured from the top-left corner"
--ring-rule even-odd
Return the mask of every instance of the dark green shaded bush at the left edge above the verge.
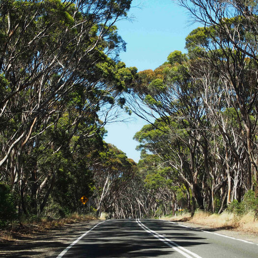
[[0, 183], [0, 226], [4, 226], [17, 218], [17, 200], [10, 187]]

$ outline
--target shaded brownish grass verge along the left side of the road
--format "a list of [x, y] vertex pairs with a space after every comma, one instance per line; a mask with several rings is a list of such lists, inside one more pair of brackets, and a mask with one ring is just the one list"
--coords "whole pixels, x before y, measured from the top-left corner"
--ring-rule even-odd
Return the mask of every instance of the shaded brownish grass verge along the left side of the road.
[[65, 224], [73, 224], [82, 221], [96, 220], [93, 215], [82, 215], [73, 213], [65, 218], [31, 217], [23, 218], [21, 221], [14, 221], [0, 229], [0, 243], [13, 241], [22, 236], [31, 236], [33, 233], [44, 232]]

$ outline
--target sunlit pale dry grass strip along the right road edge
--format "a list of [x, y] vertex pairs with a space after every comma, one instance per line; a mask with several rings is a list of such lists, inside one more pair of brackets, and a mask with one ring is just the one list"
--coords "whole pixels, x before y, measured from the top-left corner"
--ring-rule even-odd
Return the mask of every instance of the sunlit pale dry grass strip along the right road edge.
[[193, 224], [205, 225], [218, 229], [233, 229], [237, 231], [257, 233], [258, 220], [255, 220], [255, 213], [249, 212], [245, 215], [236, 215], [231, 212], [223, 212], [222, 214], [196, 211], [191, 218], [190, 213], [183, 213], [178, 216], [161, 217], [162, 220], [189, 222]]

